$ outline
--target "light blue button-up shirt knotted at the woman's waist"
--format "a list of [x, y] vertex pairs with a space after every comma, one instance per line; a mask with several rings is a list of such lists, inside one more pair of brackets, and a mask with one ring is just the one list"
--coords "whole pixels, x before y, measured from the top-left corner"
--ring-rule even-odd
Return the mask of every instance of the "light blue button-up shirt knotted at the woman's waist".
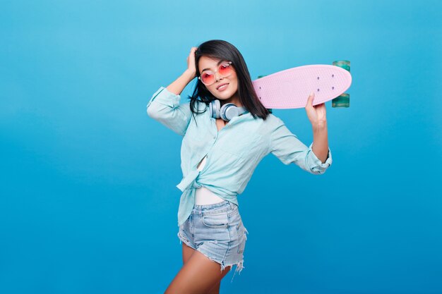
[[[304, 145], [280, 119], [269, 114], [265, 119], [253, 118], [249, 111], [235, 116], [219, 132], [208, 106], [196, 104], [203, 114], [191, 113], [190, 102], [180, 104], [180, 95], [160, 87], [147, 105], [148, 116], [183, 136], [181, 170], [183, 179], [177, 185], [179, 201], [178, 226], [189, 217], [195, 204], [196, 188], [205, 187], [224, 200], [238, 205], [237, 195], [267, 154], [272, 153], [284, 164], [297, 164], [313, 174], [324, 173], [332, 164], [330, 148], [325, 163], [316, 157], [311, 145]], [[196, 167], [207, 154], [201, 171]]]

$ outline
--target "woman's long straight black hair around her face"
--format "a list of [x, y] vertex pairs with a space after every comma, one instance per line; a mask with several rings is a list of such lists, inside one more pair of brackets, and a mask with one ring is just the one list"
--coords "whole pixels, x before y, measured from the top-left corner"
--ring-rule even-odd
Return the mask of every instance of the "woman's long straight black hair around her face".
[[[267, 118], [268, 114], [270, 114], [272, 111], [271, 109], [266, 109], [258, 99], [258, 95], [256, 94], [251, 82], [250, 73], [247, 69], [246, 62], [244, 61], [244, 58], [237, 47], [234, 47], [234, 45], [221, 39], [213, 39], [200, 44], [198, 49], [196, 49], [195, 54], [197, 77], [200, 76], [198, 61], [201, 59], [201, 56], [232, 61], [231, 66], [233, 66], [234, 71], [237, 73], [238, 95], [242, 106], [250, 111], [253, 118], [259, 117], [263, 118], [263, 120]], [[195, 105], [196, 103], [200, 103], [198, 102], [198, 97], [200, 97], [201, 102], [204, 102], [206, 105], [217, 99], [212, 93], [210, 93], [209, 90], [207, 90], [201, 80], [198, 79], [197, 81], [198, 82], [195, 90], [193, 90], [193, 94], [189, 96], [191, 99], [190, 108], [193, 116], [195, 116], [195, 114], [202, 114], [204, 112], [198, 112], [198, 107]], [[207, 110], [208, 108], [205, 109], [205, 111]]]

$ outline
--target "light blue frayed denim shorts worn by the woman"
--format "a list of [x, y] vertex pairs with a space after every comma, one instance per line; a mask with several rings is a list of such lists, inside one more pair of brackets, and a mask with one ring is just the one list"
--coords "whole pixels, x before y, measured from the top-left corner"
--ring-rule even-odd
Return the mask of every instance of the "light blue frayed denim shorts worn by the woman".
[[236, 264], [236, 271], [241, 272], [245, 268], [244, 248], [248, 233], [237, 204], [225, 200], [215, 204], [195, 204], [189, 218], [179, 226], [177, 235], [180, 244], [184, 242], [219, 263], [221, 271]]

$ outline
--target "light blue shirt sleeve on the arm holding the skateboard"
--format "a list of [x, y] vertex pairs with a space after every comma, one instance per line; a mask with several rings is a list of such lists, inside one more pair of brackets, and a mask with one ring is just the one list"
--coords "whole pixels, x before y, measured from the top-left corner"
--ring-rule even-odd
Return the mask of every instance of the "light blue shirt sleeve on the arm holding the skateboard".
[[278, 125], [270, 135], [269, 152], [275, 155], [283, 164], [297, 164], [304, 171], [322, 174], [332, 164], [332, 154], [328, 148], [328, 156], [324, 163], [314, 154], [310, 144], [304, 145], [296, 135], [287, 128], [284, 122], [277, 119]]

